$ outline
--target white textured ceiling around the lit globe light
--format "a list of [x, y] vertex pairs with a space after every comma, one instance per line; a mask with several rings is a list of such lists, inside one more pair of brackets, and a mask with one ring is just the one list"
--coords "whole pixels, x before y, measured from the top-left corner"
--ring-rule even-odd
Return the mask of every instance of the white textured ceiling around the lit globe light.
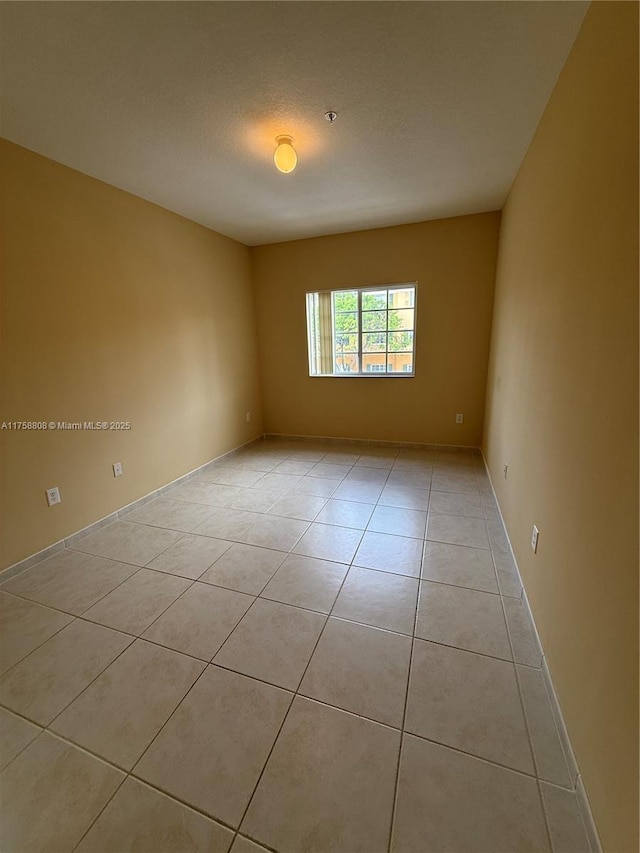
[[3, 2], [0, 133], [249, 245], [495, 210], [587, 6]]

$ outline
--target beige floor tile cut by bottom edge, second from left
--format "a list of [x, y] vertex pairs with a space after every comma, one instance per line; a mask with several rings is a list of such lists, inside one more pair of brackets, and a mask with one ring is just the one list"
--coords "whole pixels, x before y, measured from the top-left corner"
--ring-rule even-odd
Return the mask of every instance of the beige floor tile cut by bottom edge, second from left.
[[227, 853], [233, 832], [129, 777], [75, 853]]

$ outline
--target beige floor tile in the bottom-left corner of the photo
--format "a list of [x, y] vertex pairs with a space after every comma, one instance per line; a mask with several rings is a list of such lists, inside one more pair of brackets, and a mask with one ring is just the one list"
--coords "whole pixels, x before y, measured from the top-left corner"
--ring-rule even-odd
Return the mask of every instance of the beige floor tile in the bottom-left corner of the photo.
[[2, 847], [71, 851], [124, 773], [44, 732], [0, 776]]

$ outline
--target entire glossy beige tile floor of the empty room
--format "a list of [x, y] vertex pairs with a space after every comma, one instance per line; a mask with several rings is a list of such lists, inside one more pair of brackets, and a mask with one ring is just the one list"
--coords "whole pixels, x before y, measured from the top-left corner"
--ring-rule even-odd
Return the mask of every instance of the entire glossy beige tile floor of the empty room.
[[0, 586], [0, 848], [588, 853], [480, 457], [262, 441]]

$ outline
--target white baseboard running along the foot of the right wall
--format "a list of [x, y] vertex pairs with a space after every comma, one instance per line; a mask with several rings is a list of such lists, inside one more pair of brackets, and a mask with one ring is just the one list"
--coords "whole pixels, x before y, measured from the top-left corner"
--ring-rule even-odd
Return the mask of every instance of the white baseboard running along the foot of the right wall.
[[560, 705], [560, 700], [558, 698], [558, 694], [556, 692], [555, 685], [553, 683], [553, 678], [551, 677], [551, 670], [549, 668], [549, 662], [547, 660], [547, 656], [544, 652], [544, 646], [540, 639], [540, 634], [538, 632], [538, 628], [536, 625], [536, 620], [534, 618], [533, 610], [531, 609], [531, 604], [529, 602], [529, 598], [527, 596], [527, 590], [522, 581], [522, 575], [520, 574], [520, 568], [518, 566], [518, 561], [516, 560], [516, 555], [514, 554], [513, 548], [511, 546], [511, 540], [509, 539], [509, 533], [507, 530], [507, 525], [504, 521], [504, 516], [502, 515], [502, 510], [500, 509], [500, 502], [498, 501], [498, 496], [496, 495], [496, 490], [493, 486], [493, 480], [491, 479], [491, 472], [489, 471], [489, 466], [487, 465], [487, 460], [484, 455], [484, 451], [480, 449], [480, 454], [482, 456], [482, 462], [484, 464], [484, 468], [489, 479], [489, 484], [491, 486], [491, 492], [493, 494], [493, 498], [496, 503], [496, 507], [498, 510], [498, 515], [500, 516], [500, 523], [505, 532], [505, 536], [507, 537], [507, 541], [509, 543], [509, 553], [513, 559], [514, 566], [516, 568], [516, 572], [518, 573], [518, 579], [520, 581], [520, 585], [522, 586], [522, 603], [527, 610], [529, 615], [529, 619], [531, 622], [531, 627], [533, 629], [535, 640], [542, 651], [542, 673], [544, 676], [545, 687], [547, 690], [547, 696], [549, 698], [549, 704], [551, 705], [551, 711], [553, 713], [554, 722], [556, 724], [556, 730], [558, 732], [558, 737], [560, 739], [560, 745], [562, 747], [562, 751], [564, 753], [565, 761], [567, 763], [567, 768], [569, 769], [569, 773], [571, 779], [573, 780], [573, 791], [576, 795], [576, 799], [578, 802], [578, 808], [580, 811], [580, 817], [582, 819], [582, 823], [584, 824], [585, 832], [587, 835], [587, 839], [589, 841], [589, 846], [591, 848], [590, 853], [603, 853], [602, 844], [600, 842], [600, 836], [598, 835], [598, 830], [596, 827], [596, 822], [593, 817], [593, 812], [591, 811], [591, 806], [589, 804], [589, 798], [587, 797], [587, 792], [584, 787], [584, 783], [582, 781], [582, 775], [580, 773], [580, 769], [578, 767], [578, 762], [576, 760], [575, 754], [573, 752], [573, 747], [571, 746], [571, 740], [569, 738], [569, 732], [567, 730], [567, 725], [565, 723], [564, 716], [562, 714], [562, 707]]

